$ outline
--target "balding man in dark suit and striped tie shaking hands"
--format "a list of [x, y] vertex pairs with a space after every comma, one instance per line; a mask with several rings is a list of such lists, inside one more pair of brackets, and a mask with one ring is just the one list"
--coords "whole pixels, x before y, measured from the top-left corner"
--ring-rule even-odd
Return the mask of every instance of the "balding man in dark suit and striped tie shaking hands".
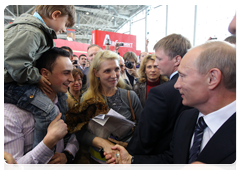
[[[238, 169], [238, 53], [227, 42], [209, 41], [191, 49], [178, 68], [175, 88], [194, 107], [178, 118], [169, 151], [134, 155], [116, 145], [122, 169], [177, 170], [199, 161]], [[199, 122], [200, 125], [199, 125]], [[203, 128], [204, 127], [204, 128]], [[202, 130], [199, 130], [203, 128]], [[200, 132], [201, 131], [201, 132]], [[200, 133], [198, 133], [200, 132]], [[197, 144], [197, 145], [196, 145]], [[106, 158], [111, 158], [106, 155]], [[114, 158], [107, 162], [115, 165]]]

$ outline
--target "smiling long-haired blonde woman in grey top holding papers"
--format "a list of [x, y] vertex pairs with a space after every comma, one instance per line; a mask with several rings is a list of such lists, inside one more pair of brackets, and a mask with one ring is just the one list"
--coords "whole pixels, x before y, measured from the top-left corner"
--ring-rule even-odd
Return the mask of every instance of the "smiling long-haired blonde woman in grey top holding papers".
[[[114, 144], [88, 131], [87, 124], [83, 125], [84, 121], [88, 123], [91, 118], [99, 114], [106, 114], [110, 109], [115, 110], [128, 120], [133, 120], [127, 90], [123, 89], [124, 81], [120, 76], [119, 62], [120, 56], [117, 53], [99, 51], [91, 62], [89, 88], [81, 98], [79, 113], [66, 115], [66, 123], [70, 132], [77, 131], [75, 133], [76, 137], [83, 148], [77, 154], [75, 169], [101, 169], [104, 167], [104, 165], [92, 160], [88, 153], [89, 147], [90, 149], [94, 148], [96, 152], [100, 149], [107, 153], [113, 152], [111, 147]], [[134, 91], [130, 91], [130, 98], [136, 121], [138, 121], [142, 112], [141, 103]], [[78, 120], [78, 122], [75, 120]], [[114, 124], [114, 126], [119, 125]], [[99, 154], [99, 152], [96, 154]], [[88, 165], [91, 165], [91, 168]]]

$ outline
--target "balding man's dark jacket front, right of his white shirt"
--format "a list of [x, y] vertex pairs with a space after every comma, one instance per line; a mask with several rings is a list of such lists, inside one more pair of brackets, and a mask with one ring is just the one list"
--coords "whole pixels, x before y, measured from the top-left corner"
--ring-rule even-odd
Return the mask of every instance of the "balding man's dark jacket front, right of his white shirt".
[[212, 136], [198, 157], [198, 161], [217, 165], [238, 150], [238, 111]]

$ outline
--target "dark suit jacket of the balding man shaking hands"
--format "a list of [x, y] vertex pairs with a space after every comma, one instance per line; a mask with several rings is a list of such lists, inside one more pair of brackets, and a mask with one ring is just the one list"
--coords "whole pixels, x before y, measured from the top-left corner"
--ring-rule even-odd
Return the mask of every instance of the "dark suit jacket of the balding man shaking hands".
[[[170, 150], [156, 156], [136, 155], [134, 169], [177, 170], [188, 164], [190, 143], [199, 111], [184, 111], [176, 122]], [[238, 169], [238, 112], [234, 113], [212, 136], [197, 161]]]

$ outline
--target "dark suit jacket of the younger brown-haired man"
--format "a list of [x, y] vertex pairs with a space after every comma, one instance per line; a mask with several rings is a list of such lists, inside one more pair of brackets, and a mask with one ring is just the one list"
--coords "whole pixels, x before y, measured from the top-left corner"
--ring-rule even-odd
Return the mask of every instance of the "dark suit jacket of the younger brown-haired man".
[[178, 74], [150, 89], [141, 118], [127, 150], [131, 155], [160, 154], [169, 149], [174, 126], [179, 114], [189, 107], [174, 84]]

